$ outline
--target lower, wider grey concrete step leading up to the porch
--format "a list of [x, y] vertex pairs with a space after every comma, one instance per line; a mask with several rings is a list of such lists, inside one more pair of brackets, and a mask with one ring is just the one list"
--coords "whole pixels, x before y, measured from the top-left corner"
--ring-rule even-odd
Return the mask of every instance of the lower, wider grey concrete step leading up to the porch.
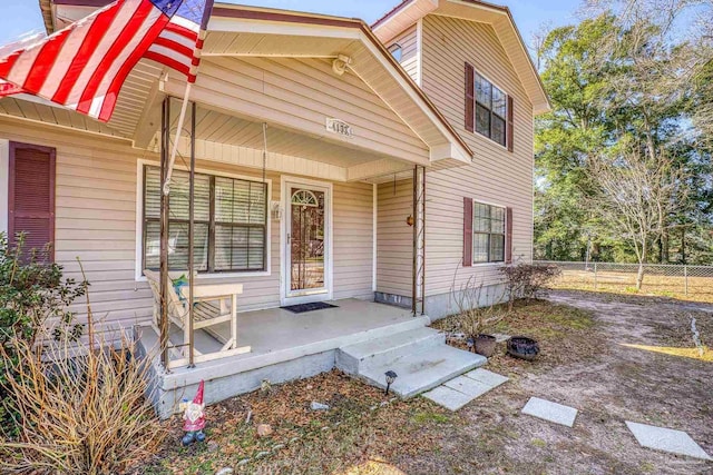
[[441, 344], [427, 352], [411, 353], [370, 365], [359, 372], [359, 377], [371, 385], [385, 388], [384, 373], [393, 370], [399, 377], [391, 385], [391, 390], [402, 398], [409, 398], [487, 362], [485, 356]]

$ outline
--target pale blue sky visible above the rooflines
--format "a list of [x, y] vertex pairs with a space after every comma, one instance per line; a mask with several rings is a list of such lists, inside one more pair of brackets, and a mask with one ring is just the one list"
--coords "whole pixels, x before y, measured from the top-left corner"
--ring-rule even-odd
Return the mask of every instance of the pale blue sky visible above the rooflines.
[[[253, 4], [310, 11], [340, 17], [361, 18], [372, 23], [391, 10], [400, 0], [223, 0], [227, 3]], [[576, 21], [579, 0], [490, 0], [507, 4], [526, 42], [541, 27], [558, 27]], [[2, 0], [0, 16], [0, 46], [30, 31], [42, 31], [42, 17], [38, 0]], [[9, 3], [9, 4], [8, 4]]]

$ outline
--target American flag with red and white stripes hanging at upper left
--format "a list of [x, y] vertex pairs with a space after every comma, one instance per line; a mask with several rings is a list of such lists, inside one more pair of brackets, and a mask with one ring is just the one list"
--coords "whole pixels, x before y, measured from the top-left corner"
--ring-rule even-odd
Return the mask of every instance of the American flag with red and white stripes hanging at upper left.
[[117, 0], [64, 30], [0, 48], [0, 97], [31, 93], [108, 121], [146, 58], [196, 80], [213, 0]]

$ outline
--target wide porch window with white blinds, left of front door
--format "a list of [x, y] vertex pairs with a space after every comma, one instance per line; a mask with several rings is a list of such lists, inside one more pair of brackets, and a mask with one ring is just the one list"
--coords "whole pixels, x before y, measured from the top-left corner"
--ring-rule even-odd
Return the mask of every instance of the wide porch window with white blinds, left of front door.
[[[199, 273], [266, 270], [267, 185], [195, 175], [194, 265]], [[168, 267], [188, 268], [189, 175], [175, 170], [170, 187]], [[160, 247], [160, 169], [144, 168], [144, 268], [157, 269]]]

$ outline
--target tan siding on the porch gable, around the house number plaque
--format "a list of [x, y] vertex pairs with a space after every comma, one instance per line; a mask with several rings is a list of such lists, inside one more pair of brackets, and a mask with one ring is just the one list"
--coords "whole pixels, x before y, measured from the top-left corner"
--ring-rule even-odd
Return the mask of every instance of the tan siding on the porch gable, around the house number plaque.
[[[334, 75], [326, 60], [211, 58], [201, 68], [194, 87], [199, 102], [380, 155], [429, 157], [423, 141], [361, 79]], [[354, 137], [326, 136], [328, 117], [349, 121]]]

